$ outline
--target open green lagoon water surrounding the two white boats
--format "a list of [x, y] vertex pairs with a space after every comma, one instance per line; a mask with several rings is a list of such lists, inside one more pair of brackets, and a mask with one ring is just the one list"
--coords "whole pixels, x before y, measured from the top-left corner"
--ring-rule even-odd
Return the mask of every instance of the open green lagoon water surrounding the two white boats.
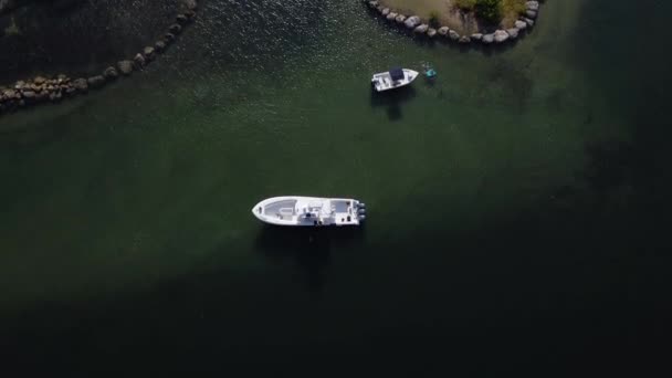
[[[670, 7], [642, 2], [617, 38], [631, 2], [548, 1], [491, 52], [359, 1], [204, 2], [133, 80], [0, 118], [4, 356], [29, 376], [657, 361]], [[435, 83], [371, 94], [422, 62]], [[269, 229], [250, 209], [277, 195], [369, 219]]]

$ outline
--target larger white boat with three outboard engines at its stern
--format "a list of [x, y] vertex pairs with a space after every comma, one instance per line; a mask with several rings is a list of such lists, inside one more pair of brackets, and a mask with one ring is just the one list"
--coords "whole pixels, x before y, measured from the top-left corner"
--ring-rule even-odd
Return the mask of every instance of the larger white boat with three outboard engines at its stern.
[[252, 208], [254, 217], [276, 225], [358, 225], [366, 204], [348, 198], [273, 197]]

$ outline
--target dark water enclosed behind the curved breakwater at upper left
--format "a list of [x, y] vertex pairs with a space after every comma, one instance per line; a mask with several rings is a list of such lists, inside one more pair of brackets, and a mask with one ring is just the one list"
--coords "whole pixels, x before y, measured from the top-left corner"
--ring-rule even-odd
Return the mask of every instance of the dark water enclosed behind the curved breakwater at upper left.
[[164, 35], [179, 1], [28, 1], [0, 15], [0, 83], [35, 74], [91, 75]]

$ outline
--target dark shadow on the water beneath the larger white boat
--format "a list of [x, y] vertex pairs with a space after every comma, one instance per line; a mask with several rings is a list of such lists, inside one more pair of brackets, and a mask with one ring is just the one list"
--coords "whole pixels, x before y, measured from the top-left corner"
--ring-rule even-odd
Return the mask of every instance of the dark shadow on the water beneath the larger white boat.
[[325, 283], [325, 271], [334, 253], [347, 253], [359, 244], [366, 228], [286, 228], [264, 224], [256, 238], [256, 250], [271, 262], [293, 262], [305, 276], [311, 291], [321, 291]]

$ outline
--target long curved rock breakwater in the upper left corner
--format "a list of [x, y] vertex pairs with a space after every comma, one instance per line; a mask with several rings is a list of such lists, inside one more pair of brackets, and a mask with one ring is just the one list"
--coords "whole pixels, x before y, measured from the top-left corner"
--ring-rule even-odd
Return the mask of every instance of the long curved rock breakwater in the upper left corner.
[[66, 74], [55, 77], [35, 76], [18, 81], [12, 85], [0, 85], [0, 115], [15, 112], [38, 104], [59, 103], [65, 98], [97, 90], [118, 77], [127, 77], [134, 71], [144, 70], [157, 55], [166, 51], [182, 30], [193, 20], [198, 3], [196, 0], [182, 0], [182, 10], [175, 17], [167, 32], [154, 45], [148, 45], [130, 60], [122, 60], [104, 69], [98, 75], [73, 78]]

